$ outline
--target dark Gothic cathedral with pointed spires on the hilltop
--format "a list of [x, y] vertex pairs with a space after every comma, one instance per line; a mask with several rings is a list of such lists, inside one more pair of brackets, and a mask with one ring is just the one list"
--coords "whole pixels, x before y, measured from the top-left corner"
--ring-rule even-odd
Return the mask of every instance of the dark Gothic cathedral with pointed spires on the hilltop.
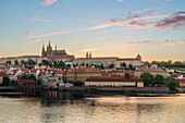
[[45, 50], [45, 45], [42, 45], [41, 49], [41, 57], [51, 57], [51, 56], [65, 56], [65, 50], [57, 50], [57, 45], [54, 50], [52, 50], [51, 42], [49, 40], [49, 44], [47, 45], [47, 49]]

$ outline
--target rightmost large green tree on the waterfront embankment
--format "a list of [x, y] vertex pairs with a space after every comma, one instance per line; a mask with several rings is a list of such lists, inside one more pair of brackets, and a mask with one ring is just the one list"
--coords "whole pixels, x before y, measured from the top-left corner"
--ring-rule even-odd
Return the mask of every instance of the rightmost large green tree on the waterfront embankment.
[[175, 79], [174, 77], [166, 77], [165, 78], [165, 85], [171, 89], [171, 90], [176, 90], [177, 87], [180, 87], [180, 82]]

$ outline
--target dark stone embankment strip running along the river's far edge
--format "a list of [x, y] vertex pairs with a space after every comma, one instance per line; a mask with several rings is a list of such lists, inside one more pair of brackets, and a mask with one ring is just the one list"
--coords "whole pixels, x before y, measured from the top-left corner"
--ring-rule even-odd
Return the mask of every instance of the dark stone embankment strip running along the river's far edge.
[[27, 88], [27, 87], [12, 87], [0, 86], [0, 91], [18, 91], [18, 90], [60, 90], [60, 91], [84, 91], [84, 93], [122, 93], [122, 94], [174, 94], [169, 87], [86, 87], [72, 86], [59, 88]]

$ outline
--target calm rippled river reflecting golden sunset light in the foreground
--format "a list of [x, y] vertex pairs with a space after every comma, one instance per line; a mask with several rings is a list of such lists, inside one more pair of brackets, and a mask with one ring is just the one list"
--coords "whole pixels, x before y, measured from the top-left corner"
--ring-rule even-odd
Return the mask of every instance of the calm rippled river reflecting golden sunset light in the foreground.
[[185, 123], [185, 95], [140, 97], [63, 91], [0, 96], [0, 123]]

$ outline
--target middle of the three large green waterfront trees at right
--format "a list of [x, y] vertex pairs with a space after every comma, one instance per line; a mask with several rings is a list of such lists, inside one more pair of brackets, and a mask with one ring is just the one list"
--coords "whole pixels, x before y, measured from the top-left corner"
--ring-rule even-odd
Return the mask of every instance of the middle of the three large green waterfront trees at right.
[[152, 81], [152, 86], [164, 86], [164, 77], [162, 75], [157, 74]]

